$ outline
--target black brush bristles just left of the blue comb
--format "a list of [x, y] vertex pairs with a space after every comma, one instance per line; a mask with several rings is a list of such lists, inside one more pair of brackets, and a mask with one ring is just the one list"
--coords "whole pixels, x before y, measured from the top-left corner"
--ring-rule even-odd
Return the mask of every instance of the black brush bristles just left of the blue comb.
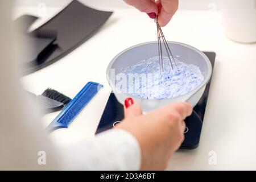
[[42, 93], [42, 95], [45, 97], [51, 98], [52, 100], [62, 102], [64, 105], [68, 104], [68, 102], [71, 101], [71, 98], [50, 88], [46, 89]]

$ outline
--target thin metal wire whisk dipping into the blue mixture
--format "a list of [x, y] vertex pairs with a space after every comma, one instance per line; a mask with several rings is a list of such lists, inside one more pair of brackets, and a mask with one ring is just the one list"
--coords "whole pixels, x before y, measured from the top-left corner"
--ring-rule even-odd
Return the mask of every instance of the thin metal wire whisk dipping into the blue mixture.
[[[159, 56], [159, 62], [160, 62], [160, 66], [161, 66], [161, 71], [164, 72], [162, 40], [163, 40], [163, 43], [164, 43], [164, 47], [166, 48], [166, 52], [167, 52], [168, 58], [170, 60], [171, 68], [174, 69], [174, 64], [175, 64], [175, 66], [177, 66], [177, 65], [176, 65], [174, 56], [172, 56], [172, 52], [171, 52], [170, 47], [168, 46], [166, 38], [164, 37], [162, 28], [158, 24], [158, 18], [157, 17], [155, 18], [155, 23], [156, 23], [156, 28], [157, 28], [157, 31], [158, 31], [158, 56]], [[172, 60], [173, 60], [174, 64], [172, 63]]]

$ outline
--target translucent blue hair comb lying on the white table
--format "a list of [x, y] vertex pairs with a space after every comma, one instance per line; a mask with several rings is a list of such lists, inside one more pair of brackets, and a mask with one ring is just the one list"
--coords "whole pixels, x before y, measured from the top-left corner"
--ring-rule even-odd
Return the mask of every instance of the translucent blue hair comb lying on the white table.
[[60, 114], [53, 119], [46, 130], [51, 132], [67, 128], [102, 87], [103, 85], [96, 82], [88, 82], [76, 97], [64, 107]]

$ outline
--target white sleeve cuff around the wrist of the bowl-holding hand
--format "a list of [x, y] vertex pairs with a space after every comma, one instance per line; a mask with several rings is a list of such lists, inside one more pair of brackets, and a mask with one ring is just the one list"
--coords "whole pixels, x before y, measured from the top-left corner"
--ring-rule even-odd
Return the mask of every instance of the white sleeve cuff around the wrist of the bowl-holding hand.
[[137, 140], [125, 130], [112, 129], [71, 148], [62, 148], [62, 169], [139, 170], [141, 150]]

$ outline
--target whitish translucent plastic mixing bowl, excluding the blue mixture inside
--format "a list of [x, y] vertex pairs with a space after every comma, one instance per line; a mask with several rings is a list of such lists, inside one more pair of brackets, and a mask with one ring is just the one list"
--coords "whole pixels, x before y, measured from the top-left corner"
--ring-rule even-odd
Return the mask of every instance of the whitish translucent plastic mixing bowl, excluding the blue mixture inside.
[[[204, 89], [210, 76], [212, 75], [212, 64], [207, 56], [198, 49], [188, 46], [187, 44], [179, 42], [168, 42], [168, 45], [171, 48], [172, 55], [174, 57], [179, 56], [179, 60], [187, 64], [194, 64], [200, 68], [203, 73], [204, 80], [201, 82], [196, 89], [191, 92], [184, 94], [182, 96], [168, 98], [164, 100], [146, 100], [138, 97], [131, 96], [128, 93], [123, 93], [115, 86], [115, 76], [122, 72], [123, 68], [130, 67], [131, 65], [137, 64], [138, 61], [149, 59], [150, 57], [158, 56], [158, 42], [147, 42], [138, 44], [136, 46], [130, 47], [119, 53], [113, 58], [109, 63], [106, 75], [108, 82], [117, 97], [117, 100], [123, 104], [127, 97], [133, 98], [135, 101], [141, 105], [143, 112], [148, 112], [155, 110], [161, 106], [170, 104], [172, 102], [181, 102], [187, 101], [190, 102], [193, 106], [197, 104], [201, 96], [204, 93]], [[164, 56], [167, 56], [166, 52], [163, 51]], [[166, 55], [165, 55], [166, 54]], [[113, 72], [114, 70], [114, 72]]]

